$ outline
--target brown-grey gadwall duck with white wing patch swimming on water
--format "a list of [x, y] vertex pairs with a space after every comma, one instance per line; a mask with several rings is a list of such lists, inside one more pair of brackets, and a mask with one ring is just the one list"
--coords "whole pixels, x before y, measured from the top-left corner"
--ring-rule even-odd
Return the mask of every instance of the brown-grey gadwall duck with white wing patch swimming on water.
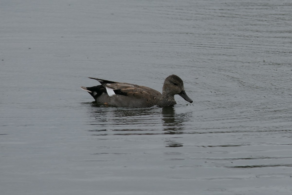
[[176, 104], [174, 95], [178, 94], [186, 101], [192, 103], [185, 93], [183, 80], [176, 75], [168, 76], [163, 84], [162, 94], [149, 87], [131, 83], [120, 83], [93, 77], [101, 85], [94, 87], [81, 87], [87, 91], [98, 103], [117, 107], [148, 108], [152, 106], [166, 107]]

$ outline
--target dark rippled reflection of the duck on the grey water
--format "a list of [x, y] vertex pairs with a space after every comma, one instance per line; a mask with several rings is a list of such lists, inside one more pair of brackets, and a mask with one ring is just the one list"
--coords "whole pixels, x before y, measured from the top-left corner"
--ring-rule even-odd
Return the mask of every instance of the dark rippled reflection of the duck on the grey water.
[[98, 133], [93, 135], [154, 136], [155, 134], [175, 134], [175, 137], [167, 136], [165, 138], [166, 147], [183, 146], [183, 143], [176, 140], [178, 134], [185, 133], [184, 124], [188, 118], [188, 113], [177, 114], [173, 106], [165, 108], [118, 108], [97, 105], [93, 102], [89, 114], [91, 118], [90, 125], [94, 127], [94, 130], [89, 131], [103, 132], [102, 134]]

